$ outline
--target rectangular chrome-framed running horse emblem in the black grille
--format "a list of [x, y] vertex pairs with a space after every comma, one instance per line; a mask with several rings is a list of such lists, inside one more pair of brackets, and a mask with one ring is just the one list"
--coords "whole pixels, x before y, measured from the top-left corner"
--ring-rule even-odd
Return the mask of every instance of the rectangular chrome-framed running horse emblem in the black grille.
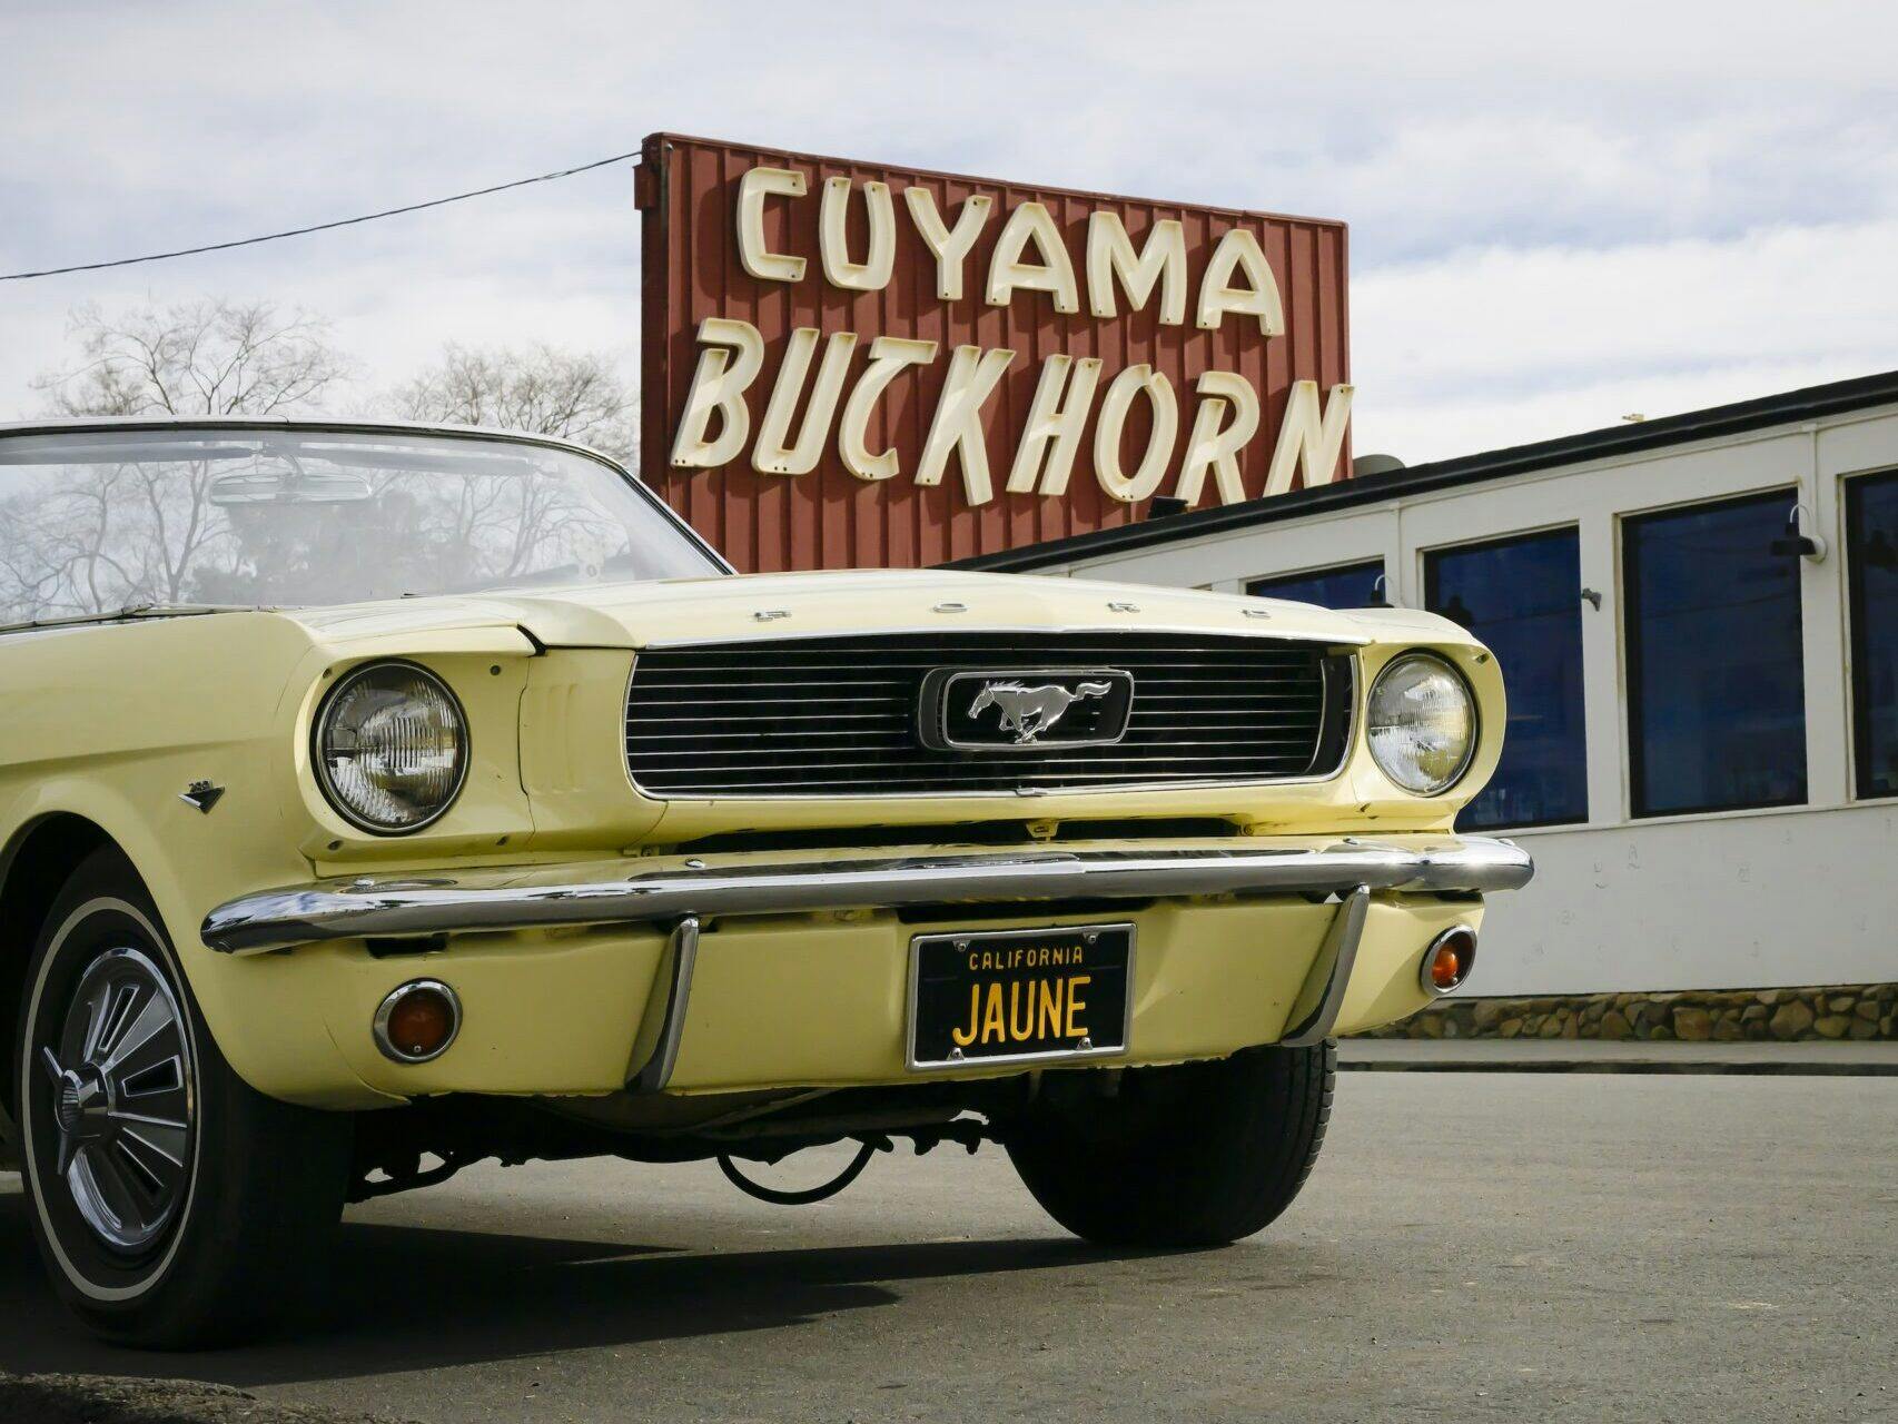
[[1112, 746], [1131, 710], [1133, 674], [1120, 668], [938, 668], [922, 680], [917, 725], [940, 752], [1040, 752]]

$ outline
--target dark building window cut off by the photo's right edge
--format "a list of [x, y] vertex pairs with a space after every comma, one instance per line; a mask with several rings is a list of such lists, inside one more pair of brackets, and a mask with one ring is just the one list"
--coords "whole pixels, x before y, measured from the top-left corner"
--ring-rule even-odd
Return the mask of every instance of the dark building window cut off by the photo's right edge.
[[1845, 484], [1860, 796], [1898, 796], [1898, 471]]

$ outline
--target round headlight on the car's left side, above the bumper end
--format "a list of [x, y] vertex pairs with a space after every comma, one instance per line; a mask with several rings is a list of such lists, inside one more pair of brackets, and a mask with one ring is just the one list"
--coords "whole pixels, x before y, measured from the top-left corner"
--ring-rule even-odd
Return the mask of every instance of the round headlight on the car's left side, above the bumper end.
[[456, 803], [469, 735], [448, 684], [414, 663], [370, 663], [330, 689], [317, 714], [317, 777], [363, 830], [421, 830]]

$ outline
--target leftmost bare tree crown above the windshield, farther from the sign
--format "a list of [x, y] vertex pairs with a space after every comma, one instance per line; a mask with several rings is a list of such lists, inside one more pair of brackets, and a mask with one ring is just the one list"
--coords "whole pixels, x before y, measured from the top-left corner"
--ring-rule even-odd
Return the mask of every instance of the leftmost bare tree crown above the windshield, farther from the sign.
[[80, 361], [34, 382], [59, 416], [283, 416], [349, 376], [328, 323], [271, 302], [199, 298], [72, 309]]

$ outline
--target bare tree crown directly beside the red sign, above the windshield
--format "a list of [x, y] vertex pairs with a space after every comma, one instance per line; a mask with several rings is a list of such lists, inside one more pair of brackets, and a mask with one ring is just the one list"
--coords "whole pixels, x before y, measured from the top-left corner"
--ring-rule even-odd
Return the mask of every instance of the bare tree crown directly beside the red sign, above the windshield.
[[393, 395], [408, 420], [560, 435], [630, 461], [640, 397], [598, 351], [446, 346]]

